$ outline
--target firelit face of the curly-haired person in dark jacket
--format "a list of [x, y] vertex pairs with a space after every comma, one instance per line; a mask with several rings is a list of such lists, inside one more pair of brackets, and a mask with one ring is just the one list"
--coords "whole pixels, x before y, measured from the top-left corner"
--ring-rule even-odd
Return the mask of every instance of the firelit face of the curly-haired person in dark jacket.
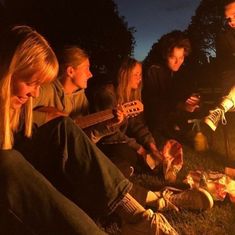
[[180, 66], [184, 62], [184, 54], [184, 48], [173, 48], [171, 54], [167, 58], [167, 66], [171, 71], [176, 72], [179, 70]]

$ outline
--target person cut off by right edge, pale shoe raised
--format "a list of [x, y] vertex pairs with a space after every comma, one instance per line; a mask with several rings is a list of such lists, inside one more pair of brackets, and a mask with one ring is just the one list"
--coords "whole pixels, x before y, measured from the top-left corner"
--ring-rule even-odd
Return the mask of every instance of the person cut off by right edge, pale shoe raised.
[[[225, 29], [218, 35], [216, 54], [222, 81], [221, 102], [204, 118], [204, 122], [215, 131], [221, 122], [226, 125], [225, 113], [235, 110], [235, 1], [224, 4]], [[235, 178], [235, 162], [229, 162], [225, 172]]]

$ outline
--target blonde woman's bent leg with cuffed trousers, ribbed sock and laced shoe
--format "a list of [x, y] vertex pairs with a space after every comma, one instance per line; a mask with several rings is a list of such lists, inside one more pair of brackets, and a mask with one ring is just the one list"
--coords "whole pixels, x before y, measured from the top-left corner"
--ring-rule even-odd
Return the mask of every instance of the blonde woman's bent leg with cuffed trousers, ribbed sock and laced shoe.
[[165, 226], [176, 234], [163, 215], [146, 211], [128, 193], [132, 186], [129, 180], [71, 119], [47, 123], [32, 141], [18, 142], [18, 148], [89, 215], [116, 211], [125, 221], [122, 234], [157, 235]]

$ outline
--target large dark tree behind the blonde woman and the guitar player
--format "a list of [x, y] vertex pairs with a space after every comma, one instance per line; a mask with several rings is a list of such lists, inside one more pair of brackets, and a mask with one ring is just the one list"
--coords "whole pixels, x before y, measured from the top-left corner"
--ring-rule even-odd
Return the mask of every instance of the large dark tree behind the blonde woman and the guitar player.
[[94, 71], [116, 71], [134, 47], [128, 28], [112, 0], [5, 0], [11, 24], [28, 24], [41, 32], [57, 51], [66, 44], [86, 49]]

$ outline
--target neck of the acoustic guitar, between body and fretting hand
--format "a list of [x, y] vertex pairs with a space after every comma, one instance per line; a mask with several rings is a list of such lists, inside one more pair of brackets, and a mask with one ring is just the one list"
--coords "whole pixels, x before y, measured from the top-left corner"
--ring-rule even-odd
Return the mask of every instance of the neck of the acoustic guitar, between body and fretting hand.
[[98, 113], [92, 113], [75, 119], [75, 123], [82, 129], [114, 118], [113, 109], [106, 109]]

